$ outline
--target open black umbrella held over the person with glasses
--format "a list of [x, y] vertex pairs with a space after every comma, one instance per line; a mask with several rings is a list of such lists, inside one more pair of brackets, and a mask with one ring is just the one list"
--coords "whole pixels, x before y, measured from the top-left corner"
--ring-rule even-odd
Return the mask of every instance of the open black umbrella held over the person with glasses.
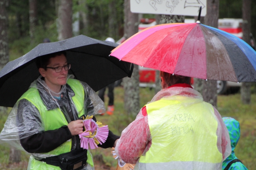
[[58, 51], [67, 52], [67, 61], [71, 64], [69, 73], [86, 82], [95, 91], [123, 77], [131, 77], [131, 63], [109, 57], [110, 51], [117, 46], [113, 42], [84, 35], [39, 44], [22, 57], [8, 62], [0, 71], [0, 106], [13, 107], [40, 75], [35, 64], [36, 57]]

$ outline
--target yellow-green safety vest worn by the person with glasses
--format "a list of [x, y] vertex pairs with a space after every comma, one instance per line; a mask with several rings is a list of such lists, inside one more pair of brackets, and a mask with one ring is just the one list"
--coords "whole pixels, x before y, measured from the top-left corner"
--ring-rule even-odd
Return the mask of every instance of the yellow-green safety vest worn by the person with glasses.
[[[72, 97], [72, 101], [76, 106], [76, 110], [78, 112], [78, 117], [82, 116], [85, 113], [84, 108], [84, 89], [82, 84], [76, 79], [68, 79], [67, 84], [72, 88], [75, 95]], [[38, 110], [41, 115], [41, 119], [43, 121], [44, 129], [47, 130], [55, 130], [60, 128], [61, 126], [68, 125], [68, 122], [61, 112], [59, 108], [53, 110], [47, 110], [46, 106], [43, 104], [41, 97], [39, 95], [39, 91], [36, 88], [30, 88], [26, 91], [18, 100], [18, 103], [21, 99], [26, 99], [30, 101]], [[66, 141], [61, 144], [58, 148], [47, 152], [42, 153], [42, 155], [59, 155], [63, 153], [67, 153], [71, 151], [72, 139]], [[38, 154], [40, 155], [40, 154]], [[87, 163], [91, 166], [93, 165], [93, 159], [91, 154], [87, 152]], [[30, 157], [30, 169], [38, 169], [39, 167], [44, 167], [45, 169], [54, 169], [60, 170], [57, 166], [48, 165], [45, 162], [37, 161]]]

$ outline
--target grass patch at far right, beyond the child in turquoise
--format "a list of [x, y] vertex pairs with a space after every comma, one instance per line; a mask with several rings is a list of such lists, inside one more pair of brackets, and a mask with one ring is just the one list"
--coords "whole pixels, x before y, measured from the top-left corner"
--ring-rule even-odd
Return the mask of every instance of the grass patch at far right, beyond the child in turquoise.
[[256, 94], [251, 104], [241, 103], [240, 94], [219, 95], [218, 111], [223, 117], [233, 117], [240, 123], [240, 139], [235, 154], [250, 170], [256, 167]]

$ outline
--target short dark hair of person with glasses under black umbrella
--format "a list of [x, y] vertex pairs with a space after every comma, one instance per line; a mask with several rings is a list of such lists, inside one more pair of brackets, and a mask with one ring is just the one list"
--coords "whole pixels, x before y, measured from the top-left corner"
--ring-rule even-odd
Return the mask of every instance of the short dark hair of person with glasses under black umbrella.
[[37, 57], [35, 59], [35, 64], [37, 65], [37, 69], [44, 68], [46, 70], [47, 68], [45, 68], [45, 67], [48, 64], [50, 64], [50, 58], [54, 58], [54, 57], [62, 55], [62, 54], [65, 55], [65, 57], [67, 57], [66, 51], [58, 51], [56, 53], [46, 54], [46, 55]]

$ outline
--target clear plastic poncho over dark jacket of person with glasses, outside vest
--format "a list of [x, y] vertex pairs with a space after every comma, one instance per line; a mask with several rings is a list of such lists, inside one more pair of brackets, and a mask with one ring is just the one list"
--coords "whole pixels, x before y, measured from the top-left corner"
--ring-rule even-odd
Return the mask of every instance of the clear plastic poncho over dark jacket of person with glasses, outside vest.
[[[73, 77], [73, 75], [68, 75], [68, 79], [72, 79]], [[39, 91], [40, 97], [45, 104], [47, 110], [59, 108], [65, 115], [68, 123], [71, 122], [70, 117], [72, 117], [73, 120], [78, 120], [78, 111], [76, 110], [74, 102], [72, 101], [72, 96], [74, 96], [74, 91], [72, 90], [72, 88], [70, 88], [68, 84], [65, 84], [62, 86], [59, 93], [55, 93], [54, 91], [50, 90], [50, 88], [46, 85], [45, 81], [41, 78], [42, 77], [39, 76], [37, 80], [32, 82], [30, 88], [36, 88]], [[85, 82], [80, 83], [82, 84], [85, 93], [85, 114], [95, 115], [104, 113], [104, 102]], [[69, 97], [69, 99], [67, 96]], [[58, 97], [61, 97], [61, 100], [58, 100]], [[64, 121], [65, 120], [63, 119], [63, 122]], [[0, 133], [0, 144], [7, 143], [19, 150], [25, 151], [20, 144], [20, 139], [24, 139], [31, 135], [44, 132], [44, 127], [44, 122], [42, 121], [37, 108], [26, 99], [21, 99], [15, 104], [15, 106], [9, 113], [6, 123], [4, 124], [4, 128]], [[75, 140], [74, 146], [73, 148], [71, 148], [71, 150], [74, 150], [74, 148], [77, 147], [76, 138], [72, 137], [72, 140]], [[30, 159], [42, 159], [48, 156], [54, 155], [44, 156], [43, 154], [33, 153]], [[40, 169], [41, 167], [38, 168]]]

